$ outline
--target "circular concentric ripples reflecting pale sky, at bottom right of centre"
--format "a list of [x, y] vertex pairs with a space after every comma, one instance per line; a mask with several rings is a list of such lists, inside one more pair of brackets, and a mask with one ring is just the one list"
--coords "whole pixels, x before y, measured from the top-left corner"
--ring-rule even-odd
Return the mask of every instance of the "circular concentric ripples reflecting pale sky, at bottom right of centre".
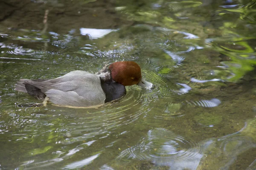
[[197, 167], [205, 148], [169, 130], [149, 130], [137, 145], [122, 151], [117, 159], [138, 159], [175, 168]]

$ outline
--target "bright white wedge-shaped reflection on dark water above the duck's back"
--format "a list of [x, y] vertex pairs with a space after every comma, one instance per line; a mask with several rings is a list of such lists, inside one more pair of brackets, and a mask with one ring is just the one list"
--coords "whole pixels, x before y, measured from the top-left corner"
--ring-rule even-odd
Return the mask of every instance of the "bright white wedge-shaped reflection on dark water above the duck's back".
[[118, 29], [95, 29], [95, 28], [80, 28], [82, 35], [89, 35], [91, 39], [104, 37], [105, 35], [118, 31]]

